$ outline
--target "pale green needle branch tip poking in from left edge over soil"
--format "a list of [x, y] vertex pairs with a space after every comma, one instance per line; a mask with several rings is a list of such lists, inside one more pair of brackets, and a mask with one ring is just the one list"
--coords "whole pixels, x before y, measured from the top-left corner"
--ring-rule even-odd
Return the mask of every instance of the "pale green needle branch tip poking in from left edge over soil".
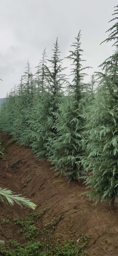
[[30, 199], [21, 197], [21, 194], [14, 194], [11, 190], [0, 188], [0, 201], [7, 201], [9, 204], [14, 205], [14, 202], [19, 205], [28, 206], [31, 209], [36, 208], [36, 204], [32, 203]]

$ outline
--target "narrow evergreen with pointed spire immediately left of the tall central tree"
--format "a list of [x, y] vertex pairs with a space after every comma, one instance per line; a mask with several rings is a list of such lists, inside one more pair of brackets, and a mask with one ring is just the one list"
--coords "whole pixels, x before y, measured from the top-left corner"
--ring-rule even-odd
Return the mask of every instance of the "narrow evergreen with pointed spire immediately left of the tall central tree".
[[63, 73], [65, 68], [62, 67], [62, 59], [60, 59], [60, 51], [58, 45], [58, 38], [54, 44], [53, 55], [49, 61], [50, 67], [47, 67], [47, 79], [49, 84], [49, 116], [47, 117], [48, 136], [46, 139], [45, 147], [47, 149], [47, 157], [50, 154], [51, 146], [56, 136], [56, 112], [58, 104], [64, 95], [63, 90], [67, 84], [67, 79]]

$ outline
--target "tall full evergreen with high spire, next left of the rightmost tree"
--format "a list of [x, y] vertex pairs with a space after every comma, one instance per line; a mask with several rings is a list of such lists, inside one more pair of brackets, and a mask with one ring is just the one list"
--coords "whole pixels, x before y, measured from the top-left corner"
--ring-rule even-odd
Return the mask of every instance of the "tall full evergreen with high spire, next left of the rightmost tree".
[[72, 61], [72, 83], [69, 85], [69, 96], [65, 96], [59, 105], [56, 115], [57, 136], [49, 152], [49, 159], [58, 173], [64, 173], [69, 181], [78, 179], [83, 174], [79, 158], [84, 154], [84, 137], [82, 135], [85, 111], [86, 86], [83, 82], [85, 68], [82, 66], [80, 32], [71, 45], [73, 50], [67, 57]]

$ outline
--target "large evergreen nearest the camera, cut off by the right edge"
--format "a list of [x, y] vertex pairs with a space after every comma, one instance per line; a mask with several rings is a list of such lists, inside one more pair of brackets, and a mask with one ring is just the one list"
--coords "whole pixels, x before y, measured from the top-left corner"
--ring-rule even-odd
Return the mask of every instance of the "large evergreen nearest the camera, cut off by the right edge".
[[[118, 20], [116, 7], [117, 17], [111, 21]], [[87, 114], [88, 156], [82, 158], [82, 164], [91, 170], [85, 181], [91, 189], [87, 195], [94, 198], [95, 204], [108, 198], [114, 209], [118, 198], [118, 22], [108, 32], [105, 41], [113, 40], [116, 51], [100, 65], [99, 87]]]

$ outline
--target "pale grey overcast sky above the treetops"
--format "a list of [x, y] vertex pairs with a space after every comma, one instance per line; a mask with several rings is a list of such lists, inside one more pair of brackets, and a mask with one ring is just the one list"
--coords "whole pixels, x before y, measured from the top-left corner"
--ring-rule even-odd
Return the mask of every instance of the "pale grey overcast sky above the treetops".
[[[0, 1], [0, 98], [19, 83], [27, 60], [34, 73], [45, 47], [51, 58], [57, 36], [63, 59], [81, 30], [83, 59], [93, 67], [88, 74], [97, 71], [114, 50], [110, 43], [100, 43], [112, 25], [108, 21], [117, 4], [118, 0]], [[64, 61], [64, 66], [69, 64]]]

